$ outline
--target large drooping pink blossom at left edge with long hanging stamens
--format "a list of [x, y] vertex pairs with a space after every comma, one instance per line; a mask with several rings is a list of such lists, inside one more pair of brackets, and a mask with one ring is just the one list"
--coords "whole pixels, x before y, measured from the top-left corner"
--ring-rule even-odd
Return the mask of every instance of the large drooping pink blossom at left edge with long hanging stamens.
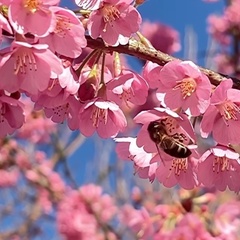
[[46, 44], [13, 42], [11, 47], [3, 49], [0, 88], [11, 93], [21, 89], [30, 94], [46, 90], [51, 73], [63, 71], [60, 59], [47, 47]]

